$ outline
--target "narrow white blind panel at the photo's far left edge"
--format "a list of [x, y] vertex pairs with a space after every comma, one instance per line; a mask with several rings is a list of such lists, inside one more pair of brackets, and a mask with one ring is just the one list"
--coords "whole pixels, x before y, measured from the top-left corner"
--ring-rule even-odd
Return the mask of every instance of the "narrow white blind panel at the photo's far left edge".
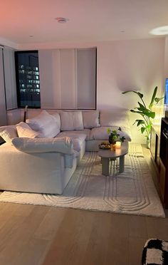
[[6, 99], [4, 90], [3, 51], [0, 48], [0, 126], [6, 125]]

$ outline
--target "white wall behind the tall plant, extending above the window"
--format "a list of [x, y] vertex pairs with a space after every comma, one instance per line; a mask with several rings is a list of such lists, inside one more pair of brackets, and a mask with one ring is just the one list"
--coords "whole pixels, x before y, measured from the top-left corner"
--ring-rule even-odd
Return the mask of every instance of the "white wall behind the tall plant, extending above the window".
[[[39, 48], [85, 48], [97, 46], [97, 108], [135, 108], [137, 95], [122, 95], [125, 90], [139, 90], [145, 95], [149, 103], [154, 87], [158, 86], [157, 96], [164, 93], [164, 46], [165, 39], [145, 39], [130, 41], [110, 41], [100, 43], [69, 43], [61, 47]], [[28, 47], [27, 47], [28, 48]], [[31, 47], [32, 48], [32, 47]], [[140, 118], [137, 116], [136, 118]], [[130, 124], [135, 120], [135, 115], [130, 113]], [[134, 142], [144, 142], [145, 137], [137, 127], [132, 126]]]

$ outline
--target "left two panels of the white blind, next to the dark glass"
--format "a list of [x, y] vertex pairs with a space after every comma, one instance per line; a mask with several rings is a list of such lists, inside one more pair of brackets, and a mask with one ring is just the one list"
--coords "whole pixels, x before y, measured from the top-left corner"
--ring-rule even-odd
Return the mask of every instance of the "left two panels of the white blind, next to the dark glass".
[[76, 108], [75, 51], [38, 52], [41, 108]]

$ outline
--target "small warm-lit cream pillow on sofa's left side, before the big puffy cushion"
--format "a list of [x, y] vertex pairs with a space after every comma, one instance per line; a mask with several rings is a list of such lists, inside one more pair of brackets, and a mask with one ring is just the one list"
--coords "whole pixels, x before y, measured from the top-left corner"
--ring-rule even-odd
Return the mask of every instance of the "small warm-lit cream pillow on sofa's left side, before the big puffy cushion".
[[16, 130], [19, 137], [30, 137], [30, 138], [37, 138], [39, 133], [35, 130], [32, 130], [27, 123], [19, 123], [16, 125]]

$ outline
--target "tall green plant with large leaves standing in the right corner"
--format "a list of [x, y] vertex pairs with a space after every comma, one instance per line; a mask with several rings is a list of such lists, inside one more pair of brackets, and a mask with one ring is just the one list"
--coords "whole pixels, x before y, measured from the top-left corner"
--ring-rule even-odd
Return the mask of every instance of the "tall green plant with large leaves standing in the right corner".
[[137, 108], [134, 108], [134, 110], [130, 110], [130, 111], [132, 113], [138, 113], [142, 116], [142, 119], [135, 120], [135, 123], [133, 123], [133, 125], [137, 124], [137, 127], [140, 126], [141, 133], [145, 134], [145, 137], [147, 137], [147, 148], [149, 148], [152, 120], [155, 117], [155, 112], [152, 111], [152, 106], [154, 105], [154, 103], [156, 104], [159, 103], [159, 101], [162, 100], [162, 98], [164, 97], [156, 98], [156, 95], [157, 95], [157, 86], [156, 86], [154, 88], [152, 99], [147, 108], [147, 105], [145, 104], [145, 101], [143, 100], [144, 95], [142, 93], [134, 91], [134, 90], [128, 90], [128, 91], [122, 92], [122, 94], [126, 94], [126, 93], [136, 93], [140, 97], [140, 100], [142, 101], [142, 103], [138, 101], [137, 103], [139, 106]]

